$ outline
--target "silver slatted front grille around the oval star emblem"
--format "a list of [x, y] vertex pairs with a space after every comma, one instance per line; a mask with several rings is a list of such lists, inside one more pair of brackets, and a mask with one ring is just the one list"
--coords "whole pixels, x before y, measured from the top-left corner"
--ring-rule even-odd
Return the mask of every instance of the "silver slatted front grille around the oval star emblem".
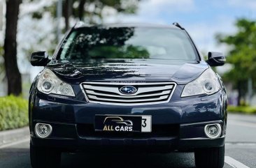
[[[126, 95], [120, 92], [122, 86], [134, 86], [137, 91], [134, 94]], [[81, 84], [81, 88], [88, 102], [105, 105], [153, 105], [169, 102], [176, 83], [84, 82]]]

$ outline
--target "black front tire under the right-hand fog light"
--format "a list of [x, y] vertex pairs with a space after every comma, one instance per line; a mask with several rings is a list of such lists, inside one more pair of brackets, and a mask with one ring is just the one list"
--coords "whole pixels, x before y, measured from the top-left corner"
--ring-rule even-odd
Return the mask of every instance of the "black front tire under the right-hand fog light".
[[224, 166], [225, 146], [218, 148], [198, 148], [194, 151], [197, 168], [222, 168]]

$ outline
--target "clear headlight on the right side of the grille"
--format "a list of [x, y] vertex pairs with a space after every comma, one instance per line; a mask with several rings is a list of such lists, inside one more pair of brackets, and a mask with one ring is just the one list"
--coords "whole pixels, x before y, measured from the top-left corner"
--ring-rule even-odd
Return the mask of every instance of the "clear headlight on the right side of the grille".
[[211, 95], [220, 90], [220, 82], [211, 68], [205, 70], [197, 79], [185, 85], [181, 97], [201, 94]]

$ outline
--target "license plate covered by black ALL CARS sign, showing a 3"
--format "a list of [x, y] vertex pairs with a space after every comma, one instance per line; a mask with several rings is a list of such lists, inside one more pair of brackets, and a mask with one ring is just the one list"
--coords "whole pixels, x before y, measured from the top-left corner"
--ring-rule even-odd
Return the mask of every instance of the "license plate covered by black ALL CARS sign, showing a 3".
[[151, 132], [151, 116], [95, 115], [94, 130], [105, 132]]

